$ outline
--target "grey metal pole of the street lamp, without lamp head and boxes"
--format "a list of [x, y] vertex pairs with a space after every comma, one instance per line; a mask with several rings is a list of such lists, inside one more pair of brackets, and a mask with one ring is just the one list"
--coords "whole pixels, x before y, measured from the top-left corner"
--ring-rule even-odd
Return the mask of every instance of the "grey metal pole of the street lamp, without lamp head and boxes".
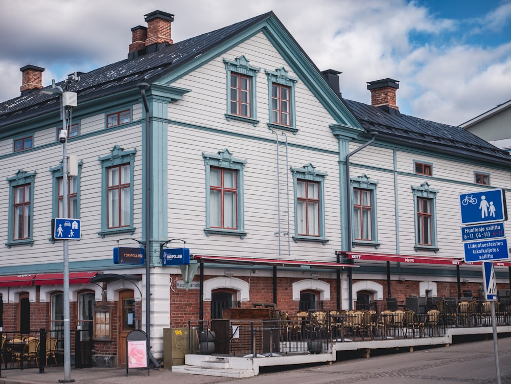
[[[66, 141], [62, 143], [62, 215], [66, 219], [69, 216], [67, 205], [67, 126], [64, 97], [62, 100], [62, 132], [66, 135]], [[69, 326], [69, 240], [62, 240], [64, 259], [64, 379], [59, 382], [74, 382], [71, 378], [71, 328]]]

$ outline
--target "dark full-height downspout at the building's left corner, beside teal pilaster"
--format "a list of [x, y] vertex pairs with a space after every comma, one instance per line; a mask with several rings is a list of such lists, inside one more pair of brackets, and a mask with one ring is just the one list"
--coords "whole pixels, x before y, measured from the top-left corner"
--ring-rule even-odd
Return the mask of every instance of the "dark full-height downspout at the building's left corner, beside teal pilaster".
[[149, 104], [147, 103], [146, 98], [146, 89], [149, 88], [148, 83], [138, 83], [136, 86], [140, 89], [140, 93], [142, 96], [142, 101], [144, 102], [144, 108], [146, 110], [146, 131], [144, 135], [144, 154], [146, 155], [146, 163], [144, 167], [145, 173], [145, 183], [146, 183], [146, 204], [144, 207], [145, 211], [145, 221], [146, 221], [146, 230], [145, 230], [145, 252], [146, 252], [146, 335], [147, 335], [147, 355], [151, 359], [151, 363], [154, 365], [154, 368], [158, 368], [159, 364], [151, 353], [151, 133], [149, 130]]

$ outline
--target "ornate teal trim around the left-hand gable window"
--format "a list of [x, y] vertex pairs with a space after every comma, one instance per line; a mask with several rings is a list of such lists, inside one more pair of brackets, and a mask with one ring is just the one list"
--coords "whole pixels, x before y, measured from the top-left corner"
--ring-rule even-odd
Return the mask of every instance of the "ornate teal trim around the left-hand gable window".
[[[227, 119], [227, 121], [243, 121], [252, 124], [254, 127], [257, 126], [259, 124], [259, 120], [257, 120], [257, 99], [255, 98], [255, 95], [257, 94], [257, 74], [259, 71], [261, 71], [261, 68], [249, 65], [249, 60], [247, 60], [245, 55], [237, 57], [234, 61], [223, 59], [223, 62], [225, 64], [225, 71], [227, 76], [227, 111], [225, 112], [225, 119]], [[231, 73], [244, 75], [250, 78], [250, 117], [240, 116], [234, 114], [233, 111], [231, 111]]]

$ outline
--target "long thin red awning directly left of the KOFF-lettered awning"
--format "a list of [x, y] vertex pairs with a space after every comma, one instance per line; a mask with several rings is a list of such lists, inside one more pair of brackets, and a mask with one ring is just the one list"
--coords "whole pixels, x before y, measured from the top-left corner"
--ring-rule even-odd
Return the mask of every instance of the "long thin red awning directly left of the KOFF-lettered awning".
[[201, 256], [194, 255], [195, 260], [211, 262], [211, 263], [223, 263], [223, 264], [245, 264], [245, 265], [275, 265], [275, 266], [291, 266], [291, 267], [317, 267], [317, 268], [330, 268], [340, 269], [342, 267], [358, 267], [358, 265], [352, 264], [340, 264], [340, 263], [328, 263], [321, 261], [299, 261], [299, 260], [282, 260], [282, 259], [260, 259], [253, 257], [235, 257], [235, 256]]

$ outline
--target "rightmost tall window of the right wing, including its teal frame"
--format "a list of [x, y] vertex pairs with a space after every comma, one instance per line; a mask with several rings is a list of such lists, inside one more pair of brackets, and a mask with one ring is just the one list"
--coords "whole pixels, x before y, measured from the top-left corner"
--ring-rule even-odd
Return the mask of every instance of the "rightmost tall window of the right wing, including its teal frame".
[[438, 251], [436, 236], [436, 194], [438, 191], [423, 183], [413, 187], [415, 204], [415, 250]]

